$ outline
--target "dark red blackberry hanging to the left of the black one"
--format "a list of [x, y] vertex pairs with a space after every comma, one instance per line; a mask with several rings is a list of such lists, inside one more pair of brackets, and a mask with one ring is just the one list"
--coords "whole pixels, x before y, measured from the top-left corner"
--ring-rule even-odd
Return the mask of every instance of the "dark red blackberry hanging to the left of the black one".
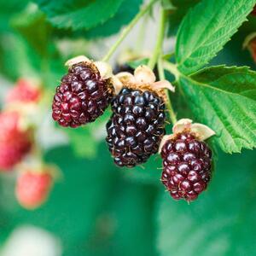
[[57, 87], [52, 117], [62, 126], [78, 127], [102, 115], [112, 97], [109, 79], [104, 80], [92, 63], [69, 68]]

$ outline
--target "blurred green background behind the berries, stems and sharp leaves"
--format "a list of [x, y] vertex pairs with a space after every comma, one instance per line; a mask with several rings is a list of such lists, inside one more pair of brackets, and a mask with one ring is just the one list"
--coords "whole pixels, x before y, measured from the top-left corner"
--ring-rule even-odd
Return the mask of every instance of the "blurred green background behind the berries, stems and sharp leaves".
[[[32, 212], [15, 201], [15, 174], [0, 174], [0, 255], [256, 255], [255, 151], [218, 152], [209, 189], [188, 204], [165, 193], [159, 181], [160, 157], [132, 170], [113, 165], [104, 143], [109, 111], [76, 130], [56, 127], [50, 118], [51, 97], [66, 72], [64, 61], [79, 54], [98, 56], [106, 49], [102, 38], [119, 32], [141, 2], [131, 1], [129, 15], [119, 26], [113, 17], [106, 29], [73, 31], [52, 26], [49, 9], [61, 4], [79, 8], [86, 1], [0, 1], [0, 98], [21, 77], [42, 81], [39, 143], [44, 160], [62, 173], [49, 201]], [[173, 1], [182, 12], [173, 14], [172, 31], [197, 2]], [[249, 20], [212, 64], [255, 68], [249, 52], [241, 49], [256, 27], [255, 18]], [[183, 116], [181, 108], [177, 111]]]

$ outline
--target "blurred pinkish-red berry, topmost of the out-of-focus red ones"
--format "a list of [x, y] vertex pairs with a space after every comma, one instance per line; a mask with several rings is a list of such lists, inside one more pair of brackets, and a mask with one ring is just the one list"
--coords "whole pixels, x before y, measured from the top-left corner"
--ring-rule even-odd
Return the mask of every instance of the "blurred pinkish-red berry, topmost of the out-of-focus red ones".
[[32, 84], [32, 81], [28, 79], [19, 79], [15, 87], [9, 91], [6, 102], [36, 103], [40, 96], [41, 90], [38, 85]]

